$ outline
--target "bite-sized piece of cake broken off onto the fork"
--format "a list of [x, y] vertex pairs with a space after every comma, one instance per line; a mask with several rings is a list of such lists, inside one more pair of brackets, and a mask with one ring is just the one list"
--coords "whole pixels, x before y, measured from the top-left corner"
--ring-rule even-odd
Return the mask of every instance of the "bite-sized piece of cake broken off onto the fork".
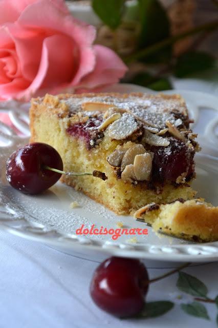
[[134, 217], [167, 235], [198, 242], [218, 239], [218, 207], [202, 198], [161, 205], [151, 203], [139, 209]]

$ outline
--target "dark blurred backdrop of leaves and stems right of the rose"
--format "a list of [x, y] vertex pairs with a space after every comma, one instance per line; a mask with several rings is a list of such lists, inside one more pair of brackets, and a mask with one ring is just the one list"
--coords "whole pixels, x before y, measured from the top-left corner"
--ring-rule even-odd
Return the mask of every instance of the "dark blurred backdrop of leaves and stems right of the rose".
[[75, 17], [96, 26], [96, 43], [115, 50], [127, 64], [124, 82], [159, 91], [172, 88], [170, 76], [218, 76], [217, 0], [78, 0], [67, 4]]

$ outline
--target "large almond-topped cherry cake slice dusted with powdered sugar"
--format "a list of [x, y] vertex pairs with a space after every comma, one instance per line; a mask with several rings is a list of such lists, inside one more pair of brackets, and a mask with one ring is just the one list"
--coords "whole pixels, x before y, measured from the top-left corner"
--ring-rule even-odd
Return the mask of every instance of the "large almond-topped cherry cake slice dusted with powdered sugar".
[[65, 171], [105, 173], [62, 176], [61, 181], [117, 214], [151, 202], [192, 199], [196, 135], [179, 95], [46, 95], [32, 100], [31, 142], [46, 142]]

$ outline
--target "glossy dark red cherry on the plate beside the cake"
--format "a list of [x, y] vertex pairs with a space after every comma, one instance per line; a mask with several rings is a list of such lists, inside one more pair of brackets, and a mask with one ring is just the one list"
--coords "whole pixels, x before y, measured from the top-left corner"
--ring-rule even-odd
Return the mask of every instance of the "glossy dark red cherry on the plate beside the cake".
[[63, 170], [62, 159], [53, 147], [33, 142], [11, 154], [6, 165], [7, 180], [24, 194], [39, 194], [61, 177], [59, 173], [44, 169], [46, 165]]

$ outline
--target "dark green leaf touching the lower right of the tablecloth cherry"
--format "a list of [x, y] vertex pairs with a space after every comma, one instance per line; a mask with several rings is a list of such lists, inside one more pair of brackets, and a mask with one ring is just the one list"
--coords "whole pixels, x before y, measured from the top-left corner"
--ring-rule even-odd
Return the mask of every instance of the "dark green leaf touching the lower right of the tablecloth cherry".
[[144, 308], [137, 315], [137, 318], [154, 318], [162, 316], [173, 308], [174, 304], [170, 301], [147, 302]]

